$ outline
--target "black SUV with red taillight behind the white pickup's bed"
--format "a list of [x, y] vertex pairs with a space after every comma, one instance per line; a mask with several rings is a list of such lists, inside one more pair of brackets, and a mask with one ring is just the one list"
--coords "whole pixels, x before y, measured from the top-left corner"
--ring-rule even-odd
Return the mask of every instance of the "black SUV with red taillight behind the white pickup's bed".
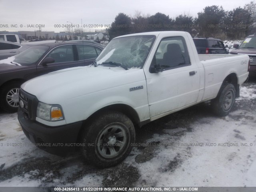
[[219, 39], [210, 37], [193, 38], [198, 54], [228, 54], [224, 43]]

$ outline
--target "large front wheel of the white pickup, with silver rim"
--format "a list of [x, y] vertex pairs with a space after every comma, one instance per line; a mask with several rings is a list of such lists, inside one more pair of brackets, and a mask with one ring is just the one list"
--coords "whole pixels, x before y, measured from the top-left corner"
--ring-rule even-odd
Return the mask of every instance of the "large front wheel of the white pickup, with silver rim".
[[120, 112], [105, 112], [82, 133], [82, 154], [100, 168], [122, 162], [131, 152], [135, 141], [132, 121]]

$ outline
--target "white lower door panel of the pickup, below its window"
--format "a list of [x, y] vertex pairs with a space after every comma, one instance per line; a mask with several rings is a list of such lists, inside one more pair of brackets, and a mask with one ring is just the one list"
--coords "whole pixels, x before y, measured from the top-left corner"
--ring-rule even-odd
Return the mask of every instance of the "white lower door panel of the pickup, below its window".
[[[192, 71], [195, 74], [190, 76]], [[196, 102], [199, 83], [197, 68], [192, 66], [148, 74], [150, 117]]]

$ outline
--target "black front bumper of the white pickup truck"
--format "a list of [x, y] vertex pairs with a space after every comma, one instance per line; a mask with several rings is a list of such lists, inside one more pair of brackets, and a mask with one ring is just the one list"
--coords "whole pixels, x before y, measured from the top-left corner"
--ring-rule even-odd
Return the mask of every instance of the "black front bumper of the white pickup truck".
[[62, 126], [46, 126], [30, 120], [22, 110], [18, 110], [18, 120], [27, 138], [39, 148], [52, 154], [64, 154], [76, 149], [82, 121]]

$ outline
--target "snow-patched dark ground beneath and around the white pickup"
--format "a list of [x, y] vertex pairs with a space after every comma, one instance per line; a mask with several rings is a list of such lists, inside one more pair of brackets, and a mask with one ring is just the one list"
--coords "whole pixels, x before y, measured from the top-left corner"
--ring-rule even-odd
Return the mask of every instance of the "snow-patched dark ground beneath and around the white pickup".
[[151, 122], [130, 156], [107, 169], [38, 149], [16, 113], [0, 112], [0, 186], [256, 186], [255, 88], [241, 86], [223, 118], [198, 105]]

